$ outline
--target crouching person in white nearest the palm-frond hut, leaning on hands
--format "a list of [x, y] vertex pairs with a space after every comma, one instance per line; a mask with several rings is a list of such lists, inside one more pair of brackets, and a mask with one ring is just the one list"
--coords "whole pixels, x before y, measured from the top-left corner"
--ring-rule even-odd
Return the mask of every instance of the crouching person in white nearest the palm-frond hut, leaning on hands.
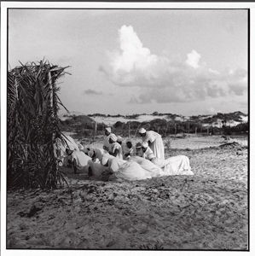
[[82, 151], [71, 150], [68, 148], [66, 149], [66, 153], [72, 162], [73, 172], [75, 174], [78, 171], [88, 172], [88, 169], [89, 169], [88, 162], [89, 160], [91, 160], [90, 156], [88, 156], [87, 154], [84, 154], [84, 152]]

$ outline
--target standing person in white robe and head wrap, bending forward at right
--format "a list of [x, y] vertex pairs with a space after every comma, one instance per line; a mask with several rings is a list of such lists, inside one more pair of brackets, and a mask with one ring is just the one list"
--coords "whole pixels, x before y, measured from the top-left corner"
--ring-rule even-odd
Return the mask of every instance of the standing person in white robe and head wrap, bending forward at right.
[[152, 149], [155, 157], [158, 159], [165, 159], [165, 148], [162, 137], [155, 131], [146, 131], [144, 128], [139, 130], [142, 137], [142, 142], [148, 143], [149, 148]]

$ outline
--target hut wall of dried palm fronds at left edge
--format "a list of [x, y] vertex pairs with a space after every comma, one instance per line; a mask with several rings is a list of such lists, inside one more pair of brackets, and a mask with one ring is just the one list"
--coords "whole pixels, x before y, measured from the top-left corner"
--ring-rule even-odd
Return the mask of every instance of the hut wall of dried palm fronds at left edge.
[[67, 67], [48, 61], [20, 64], [8, 72], [8, 187], [56, 188], [65, 182], [53, 151], [61, 134], [56, 81]]

